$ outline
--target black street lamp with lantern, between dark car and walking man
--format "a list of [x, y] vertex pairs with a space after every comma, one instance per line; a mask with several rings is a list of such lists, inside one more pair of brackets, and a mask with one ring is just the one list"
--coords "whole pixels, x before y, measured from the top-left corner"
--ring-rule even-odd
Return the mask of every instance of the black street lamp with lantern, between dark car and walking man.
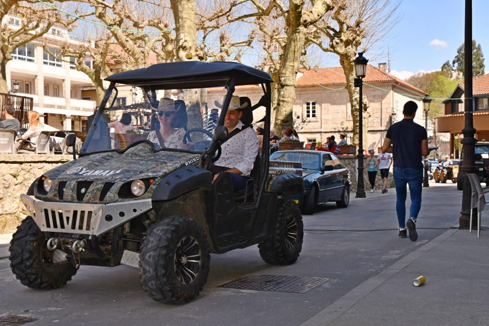
[[356, 78], [354, 80], [355, 87], [359, 88], [359, 105], [358, 105], [358, 180], [356, 183], [356, 198], [365, 198], [365, 184], [363, 182], [363, 93], [362, 79], [367, 72], [368, 60], [363, 57], [363, 52], [358, 52], [358, 57], [355, 58], [355, 73]]

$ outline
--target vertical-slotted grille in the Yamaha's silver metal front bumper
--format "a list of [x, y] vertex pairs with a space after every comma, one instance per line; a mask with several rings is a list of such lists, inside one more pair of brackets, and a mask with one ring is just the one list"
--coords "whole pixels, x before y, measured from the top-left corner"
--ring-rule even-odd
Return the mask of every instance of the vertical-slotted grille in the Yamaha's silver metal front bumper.
[[72, 210], [65, 211], [67, 214], [63, 214], [61, 209], [46, 209], [44, 208], [44, 221], [47, 228], [61, 229], [64, 231], [73, 231], [76, 233], [78, 230], [90, 230], [92, 211]]

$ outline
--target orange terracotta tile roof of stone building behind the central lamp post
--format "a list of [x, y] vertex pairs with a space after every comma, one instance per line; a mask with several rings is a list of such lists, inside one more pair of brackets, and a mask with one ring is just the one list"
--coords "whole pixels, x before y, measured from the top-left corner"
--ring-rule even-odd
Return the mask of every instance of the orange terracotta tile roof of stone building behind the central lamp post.
[[[345, 78], [345, 74], [343, 73], [342, 67], [319, 68], [317, 71], [302, 70], [301, 72], [303, 72], [304, 75], [297, 80], [296, 85], [298, 87], [314, 86], [317, 84], [323, 86], [346, 84], [346, 78]], [[422, 94], [426, 94], [421, 89], [414, 87], [411, 84], [406, 83], [405, 81], [397, 77], [389, 75], [388, 73], [383, 72], [382, 70], [374, 67], [373, 65], [367, 65], [367, 74], [363, 79], [363, 82], [367, 84], [378, 83], [378, 82], [397, 82], [405, 87], [411, 88], [414, 91], [417, 91]]]

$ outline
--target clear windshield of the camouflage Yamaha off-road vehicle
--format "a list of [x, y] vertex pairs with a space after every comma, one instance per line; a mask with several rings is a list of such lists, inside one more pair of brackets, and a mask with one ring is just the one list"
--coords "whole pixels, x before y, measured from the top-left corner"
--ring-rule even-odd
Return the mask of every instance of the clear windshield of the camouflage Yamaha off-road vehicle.
[[[82, 153], [123, 151], [139, 141], [151, 143], [156, 151], [171, 148], [204, 152], [211, 144], [227, 90], [213, 87], [183, 91], [195, 94], [197, 104], [178, 100], [184, 97], [182, 90], [151, 91], [117, 85], [106, 109], [89, 117]], [[239, 94], [235, 91], [234, 95]], [[260, 109], [263, 114], [256, 114], [256, 120], [265, 114], [265, 109]]]

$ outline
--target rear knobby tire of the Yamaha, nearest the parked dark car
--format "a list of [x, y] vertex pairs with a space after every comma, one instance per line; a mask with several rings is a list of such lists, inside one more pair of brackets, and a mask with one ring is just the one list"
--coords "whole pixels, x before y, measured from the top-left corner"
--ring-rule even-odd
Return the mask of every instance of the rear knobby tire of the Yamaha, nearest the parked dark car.
[[272, 236], [258, 245], [262, 259], [272, 265], [290, 265], [302, 250], [304, 225], [301, 211], [291, 200], [277, 202]]

